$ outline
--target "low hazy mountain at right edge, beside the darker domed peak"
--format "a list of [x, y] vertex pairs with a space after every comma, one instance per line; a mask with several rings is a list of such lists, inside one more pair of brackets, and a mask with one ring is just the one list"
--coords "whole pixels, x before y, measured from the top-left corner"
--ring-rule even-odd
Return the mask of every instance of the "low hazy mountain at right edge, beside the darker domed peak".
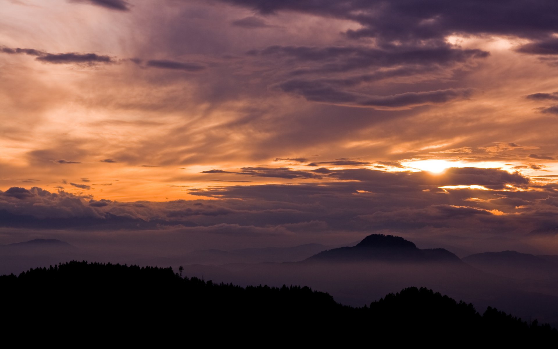
[[541, 257], [517, 251], [483, 252], [463, 260], [480, 270], [520, 279], [541, 279], [558, 275], [556, 264]]

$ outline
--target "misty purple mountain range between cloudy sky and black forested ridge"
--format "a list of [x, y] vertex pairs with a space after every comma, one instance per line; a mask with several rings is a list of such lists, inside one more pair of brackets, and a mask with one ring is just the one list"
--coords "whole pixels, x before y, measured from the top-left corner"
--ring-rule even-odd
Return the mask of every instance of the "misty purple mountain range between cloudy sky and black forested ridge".
[[408, 286], [426, 286], [480, 307], [558, 324], [558, 256], [516, 251], [459, 259], [444, 248], [417, 248], [391, 235], [369, 235], [354, 246], [317, 243], [294, 247], [200, 250], [178, 256], [124, 257], [85, 250], [60, 240], [0, 245], [0, 273], [60, 261], [103, 260], [184, 266], [185, 275], [240, 285], [305, 284], [341, 303], [362, 305]]

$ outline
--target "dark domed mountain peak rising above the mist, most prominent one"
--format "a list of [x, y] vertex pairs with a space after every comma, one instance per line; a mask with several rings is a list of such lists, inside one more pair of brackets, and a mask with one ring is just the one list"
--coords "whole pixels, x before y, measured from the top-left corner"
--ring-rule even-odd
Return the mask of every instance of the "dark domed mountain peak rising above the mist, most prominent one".
[[369, 235], [357, 246], [322, 251], [309, 257], [306, 261], [452, 262], [463, 264], [458, 256], [444, 248], [421, 250], [414, 243], [402, 237], [383, 234]]

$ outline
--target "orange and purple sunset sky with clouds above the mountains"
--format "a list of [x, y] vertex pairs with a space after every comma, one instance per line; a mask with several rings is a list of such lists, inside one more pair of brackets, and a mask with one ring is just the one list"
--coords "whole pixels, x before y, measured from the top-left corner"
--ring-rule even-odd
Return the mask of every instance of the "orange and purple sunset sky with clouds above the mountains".
[[0, 243], [558, 254], [558, 2], [0, 8]]

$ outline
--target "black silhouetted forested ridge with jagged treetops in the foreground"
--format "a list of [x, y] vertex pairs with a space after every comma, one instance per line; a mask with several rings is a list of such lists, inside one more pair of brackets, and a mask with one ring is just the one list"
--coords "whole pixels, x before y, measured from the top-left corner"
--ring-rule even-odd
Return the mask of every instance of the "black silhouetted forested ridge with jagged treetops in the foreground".
[[283, 339], [296, 334], [332, 341], [355, 333], [394, 340], [401, 333], [437, 340], [459, 336], [460, 342], [558, 339], [550, 326], [529, 324], [492, 308], [481, 315], [472, 304], [414, 287], [352, 308], [307, 287], [244, 288], [182, 277], [171, 268], [72, 261], [0, 276], [0, 289], [4, 319], [20, 327], [30, 322], [64, 324], [66, 329], [102, 324], [103, 331], [187, 328], [197, 335], [249, 331], [258, 337], [277, 332]]

